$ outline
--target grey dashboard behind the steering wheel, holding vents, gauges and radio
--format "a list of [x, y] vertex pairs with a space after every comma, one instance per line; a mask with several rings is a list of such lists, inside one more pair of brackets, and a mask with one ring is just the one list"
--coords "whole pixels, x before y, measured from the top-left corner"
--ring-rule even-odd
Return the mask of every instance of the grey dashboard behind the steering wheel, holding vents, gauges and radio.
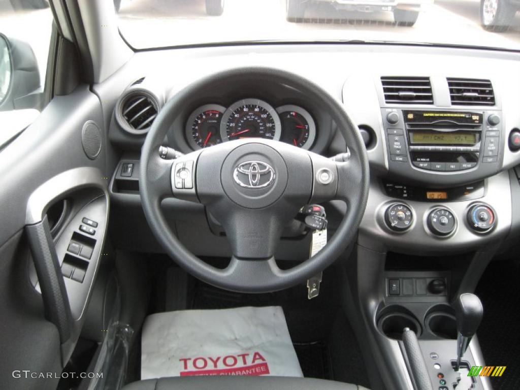
[[[211, 69], [204, 66], [208, 62]], [[125, 213], [128, 202], [139, 208], [138, 177], [123, 167], [134, 164], [136, 171], [146, 137], [146, 131], [135, 134], [141, 131], [136, 127], [149, 125], [165, 101], [204, 75], [229, 69], [229, 63], [271, 66], [322, 86], [359, 128], [371, 178], [358, 243], [412, 254], [482, 248], [520, 227], [512, 207], [520, 195], [513, 170], [520, 164], [519, 62], [517, 53], [362, 44], [136, 53], [119, 79], [106, 83], [117, 91], [114, 111], [107, 113], [109, 137], [122, 151], [111, 184], [114, 203]], [[141, 102], [134, 107], [135, 101]], [[142, 106], [143, 101], [148, 103]], [[124, 113], [128, 107], [132, 110]], [[280, 140], [330, 158], [347, 151], [327, 110], [289, 85], [216, 84], [185, 107], [164, 140], [181, 152], [245, 137]], [[137, 122], [134, 132], [125, 131], [128, 121]], [[227, 255], [224, 232], [203, 209], [186, 203], [171, 207], [177, 233], [191, 250]], [[333, 232], [334, 213], [342, 206], [326, 208]], [[213, 244], [201, 248], [193, 237]], [[284, 253], [278, 257], [306, 258], [305, 245], [284, 237], [291, 240], [281, 245]], [[132, 240], [125, 236], [124, 241]]]

